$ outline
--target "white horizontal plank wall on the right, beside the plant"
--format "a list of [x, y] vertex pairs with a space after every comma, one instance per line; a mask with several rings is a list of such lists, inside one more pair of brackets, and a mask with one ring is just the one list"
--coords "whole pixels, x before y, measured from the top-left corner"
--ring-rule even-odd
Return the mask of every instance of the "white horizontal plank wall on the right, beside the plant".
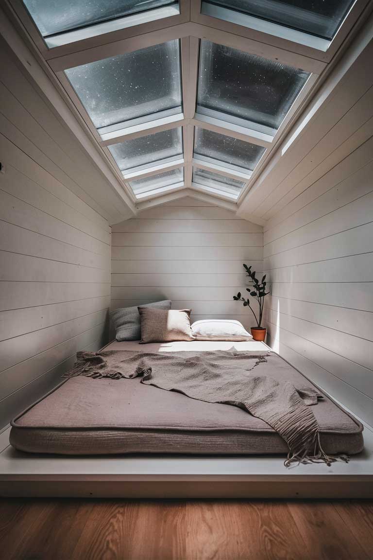
[[267, 223], [263, 268], [271, 346], [371, 425], [372, 251], [370, 138]]

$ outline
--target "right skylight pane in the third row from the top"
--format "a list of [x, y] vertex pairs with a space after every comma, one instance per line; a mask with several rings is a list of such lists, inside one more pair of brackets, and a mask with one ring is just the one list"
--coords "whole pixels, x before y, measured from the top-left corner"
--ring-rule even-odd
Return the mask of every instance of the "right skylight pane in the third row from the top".
[[202, 156], [207, 161], [219, 161], [243, 167], [243, 170], [253, 170], [262, 157], [266, 148], [243, 142], [225, 134], [196, 127], [194, 136], [194, 156]]

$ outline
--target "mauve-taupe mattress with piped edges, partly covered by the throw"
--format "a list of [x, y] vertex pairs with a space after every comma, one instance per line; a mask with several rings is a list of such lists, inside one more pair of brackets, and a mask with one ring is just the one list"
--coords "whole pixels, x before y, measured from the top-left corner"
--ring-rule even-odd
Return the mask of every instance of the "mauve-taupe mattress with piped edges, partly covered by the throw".
[[[115, 342], [105, 349], [147, 352], [267, 351], [257, 342]], [[277, 379], [304, 385], [295, 368], [278, 357]], [[363, 449], [362, 425], [328, 396], [313, 408], [327, 454]], [[11, 444], [19, 450], [63, 455], [287, 454], [287, 445], [259, 418], [226, 404], [206, 403], [135, 379], [73, 377], [12, 421]]]

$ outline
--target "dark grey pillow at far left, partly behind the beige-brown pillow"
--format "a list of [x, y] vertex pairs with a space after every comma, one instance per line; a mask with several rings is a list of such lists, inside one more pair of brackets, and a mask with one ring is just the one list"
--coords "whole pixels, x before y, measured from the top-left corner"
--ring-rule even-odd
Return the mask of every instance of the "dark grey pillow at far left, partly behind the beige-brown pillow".
[[[156, 309], [171, 309], [171, 300], [156, 301], [154, 304], [145, 304], [142, 307], [155, 307]], [[122, 340], [140, 340], [140, 315], [137, 306], [121, 307], [110, 314], [112, 325], [115, 328], [115, 338]]]

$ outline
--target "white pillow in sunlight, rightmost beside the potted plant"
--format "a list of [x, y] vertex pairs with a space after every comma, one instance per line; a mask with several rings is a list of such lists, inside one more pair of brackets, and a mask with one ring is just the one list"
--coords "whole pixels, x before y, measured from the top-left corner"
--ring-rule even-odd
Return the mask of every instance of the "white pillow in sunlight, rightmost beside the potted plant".
[[192, 324], [192, 334], [197, 340], [250, 340], [252, 335], [233, 319], [204, 319]]

